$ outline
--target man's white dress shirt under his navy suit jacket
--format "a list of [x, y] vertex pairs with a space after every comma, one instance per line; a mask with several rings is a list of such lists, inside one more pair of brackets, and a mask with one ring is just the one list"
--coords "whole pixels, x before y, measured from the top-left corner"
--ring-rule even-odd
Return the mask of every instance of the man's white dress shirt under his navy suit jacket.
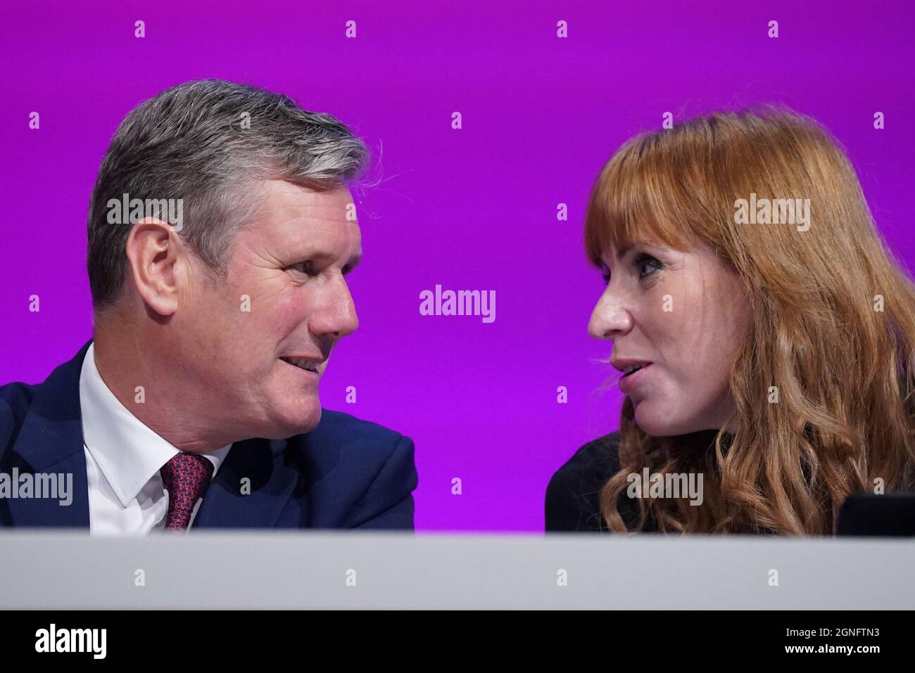
[[[159, 469], [180, 452], [114, 397], [95, 366], [94, 347], [90, 344], [86, 351], [80, 372], [90, 533], [143, 535], [164, 529], [168, 492]], [[214, 477], [229, 449], [231, 444], [204, 454], [213, 464]], [[201, 502], [195, 504], [188, 528]]]

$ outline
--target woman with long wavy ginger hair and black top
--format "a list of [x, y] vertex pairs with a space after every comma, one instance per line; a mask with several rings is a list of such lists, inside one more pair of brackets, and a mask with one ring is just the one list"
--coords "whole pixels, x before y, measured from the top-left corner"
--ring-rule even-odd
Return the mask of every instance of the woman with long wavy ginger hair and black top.
[[915, 288], [817, 123], [631, 139], [585, 241], [626, 398], [550, 481], [548, 530], [830, 535], [849, 494], [915, 486]]

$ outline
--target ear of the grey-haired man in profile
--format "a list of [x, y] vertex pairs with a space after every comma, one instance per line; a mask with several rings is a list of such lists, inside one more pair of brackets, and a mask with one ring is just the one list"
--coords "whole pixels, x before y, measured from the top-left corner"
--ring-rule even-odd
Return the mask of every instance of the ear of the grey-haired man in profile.
[[127, 260], [136, 292], [159, 315], [178, 310], [187, 283], [187, 251], [178, 234], [161, 219], [144, 218], [127, 236]]

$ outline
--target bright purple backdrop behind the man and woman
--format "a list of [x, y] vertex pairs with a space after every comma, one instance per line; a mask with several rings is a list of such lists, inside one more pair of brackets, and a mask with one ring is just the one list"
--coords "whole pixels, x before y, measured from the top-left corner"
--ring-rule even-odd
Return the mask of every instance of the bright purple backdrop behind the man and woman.
[[[890, 246], [915, 259], [908, 3], [380, 5], [4, 3], [0, 381], [43, 380], [91, 336], [85, 217], [102, 155], [140, 101], [204, 77], [285, 92], [381, 154], [350, 276], [361, 326], [321, 399], [414, 439], [417, 529], [543, 529], [550, 475], [618, 427], [619, 395], [597, 392], [609, 344], [587, 336], [601, 283], [582, 219], [600, 166], [663, 112], [770, 101], [812, 115], [845, 144]], [[496, 321], [419, 315], [436, 283], [496, 290]]]

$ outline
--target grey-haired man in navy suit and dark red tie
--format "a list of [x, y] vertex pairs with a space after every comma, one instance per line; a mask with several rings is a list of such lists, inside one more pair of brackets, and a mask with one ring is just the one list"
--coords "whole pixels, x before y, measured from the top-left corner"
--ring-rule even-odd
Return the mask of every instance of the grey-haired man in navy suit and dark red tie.
[[[220, 80], [127, 115], [89, 208], [92, 341], [0, 388], [0, 525], [413, 529], [413, 443], [318, 399], [358, 326], [366, 155], [333, 117]], [[67, 479], [69, 504], [39, 493]]]

